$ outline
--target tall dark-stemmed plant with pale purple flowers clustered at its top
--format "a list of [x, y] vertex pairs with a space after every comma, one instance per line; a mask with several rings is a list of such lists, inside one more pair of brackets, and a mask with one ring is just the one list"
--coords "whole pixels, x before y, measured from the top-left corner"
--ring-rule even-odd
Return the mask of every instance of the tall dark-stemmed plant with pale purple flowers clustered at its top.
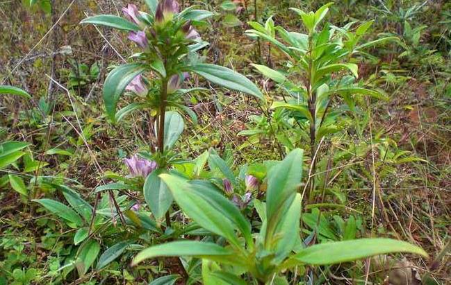
[[[196, 51], [208, 43], [201, 40], [195, 26], [213, 15], [211, 12], [193, 7], [181, 11], [179, 3], [174, 0], [147, 0], [146, 4], [149, 12], [142, 12], [129, 4], [122, 9], [124, 17], [97, 15], [83, 19], [81, 23], [126, 31], [129, 33], [128, 39], [139, 49], [133, 55], [132, 62], [110, 71], [104, 83], [103, 98], [106, 114], [113, 123], [135, 110], [149, 110], [154, 117], [156, 150], [140, 153], [147, 162], [139, 162], [139, 158], [134, 157], [126, 163], [132, 175], [136, 171], [147, 173], [148, 169], [137, 169], [141, 166], [158, 166], [145, 178], [144, 198], [155, 218], [160, 220], [165, 216], [166, 226], [169, 227], [168, 209], [172, 205], [172, 196], [159, 175], [167, 173], [170, 166], [178, 161], [177, 155], [171, 151], [184, 128], [183, 118], [177, 111], [186, 112], [193, 122], [197, 121], [195, 113], [184, 105], [183, 95], [198, 88], [182, 89], [183, 82], [194, 73], [211, 83], [260, 99], [263, 95], [245, 76], [226, 67], [197, 61]], [[135, 102], [117, 110], [117, 103], [124, 91], [136, 94]], [[127, 187], [129, 185], [113, 183], [109, 187], [104, 185], [101, 190]]]

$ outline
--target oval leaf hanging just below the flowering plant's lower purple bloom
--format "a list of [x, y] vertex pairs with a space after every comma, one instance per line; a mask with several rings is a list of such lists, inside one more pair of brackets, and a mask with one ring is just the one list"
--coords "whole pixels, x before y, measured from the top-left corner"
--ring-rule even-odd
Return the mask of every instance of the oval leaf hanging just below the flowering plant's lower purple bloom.
[[167, 171], [165, 169], [156, 169], [147, 176], [144, 183], [144, 198], [157, 220], [165, 216], [166, 211], [171, 207], [174, 200], [166, 184], [158, 177], [162, 173], [167, 173]]

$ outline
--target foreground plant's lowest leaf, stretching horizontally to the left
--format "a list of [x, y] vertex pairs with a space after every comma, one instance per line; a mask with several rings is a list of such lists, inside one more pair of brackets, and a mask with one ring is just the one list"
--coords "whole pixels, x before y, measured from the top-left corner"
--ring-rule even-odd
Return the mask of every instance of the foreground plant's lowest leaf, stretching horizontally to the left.
[[145, 259], [154, 257], [199, 257], [228, 256], [233, 254], [230, 250], [222, 248], [215, 243], [200, 241], [172, 241], [161, 245], [154, 245], [142, 250], [132, 261], [132, 265], [139, 264]]

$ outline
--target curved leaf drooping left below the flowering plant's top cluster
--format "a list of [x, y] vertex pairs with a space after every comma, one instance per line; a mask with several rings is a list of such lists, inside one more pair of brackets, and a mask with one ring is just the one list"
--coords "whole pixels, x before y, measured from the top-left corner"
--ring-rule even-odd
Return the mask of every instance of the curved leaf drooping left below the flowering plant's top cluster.
[[142, 74], [145, 67], [140, 63], [124, 64], [113, 69], [104, 83], [104, 102], [106, 114], [115, 122], [116, 105], [124, 89], [133, 78]]

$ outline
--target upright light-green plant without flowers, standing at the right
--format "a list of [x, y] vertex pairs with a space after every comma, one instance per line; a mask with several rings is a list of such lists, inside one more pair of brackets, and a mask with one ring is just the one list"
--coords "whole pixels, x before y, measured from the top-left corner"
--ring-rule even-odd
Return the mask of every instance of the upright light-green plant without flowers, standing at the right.
[[[363, 50], [382, 42], [397, 40], [396, 37], [383, 37], [359, 44], [372, 21], [352, 27], [351, 22], [343, 28], [331, 24], [320, 25], [325, 19], [332, 3], [316, 12], [304, 12], [291, 8], [300, 16], [305, 33], [286, 31], [274, 26], [270, 17], [265, 25], [251, 21], [253, 29], [246, 31], [249, 37], [268, 41], [286, 56], [286, 70], [279, 71], [264, 65], [253, 64], [263, 76], [274, 81], [281, 89], [281, 96], [275, 98], [272, 108], [283, 108], [297, 119], [297, 125], [308, 133], [310, 139], [311, 175], [307, 196], [313, 198], [315, 189], [315, 154], [323, 137], [338, 132], [338, 116], [356, 108], [356, 96], [372, 96], [385, 99], [383, 92], [368, 89], [359, 77], [359, 55]], [[276, 33], [277, 32], [277, 33]], [[285, 96], [285, 94], [287, 96]], [[345, 104], [341, 104], [342, 99]], [[320, 154], [317, 154], [318, 156]]]

